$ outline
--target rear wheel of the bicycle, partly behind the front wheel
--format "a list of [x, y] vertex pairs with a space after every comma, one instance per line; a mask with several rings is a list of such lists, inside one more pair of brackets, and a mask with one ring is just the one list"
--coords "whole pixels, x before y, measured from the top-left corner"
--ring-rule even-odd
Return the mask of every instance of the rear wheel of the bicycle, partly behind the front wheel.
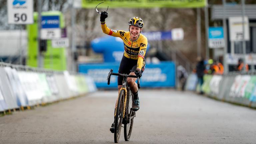
[[132, 110], [132, 93], [129, 90], [127, 94], [127, 101], [126, 101], [126, 119], [127, 119], [127, 124], [124, 125], [124, 139], [125, 141], [129, 141], [131, 134], [132, 134], [132, 126], [133, 126], [133, 118], [131, 118], [133, 115], [135, 115], [134, 111]]

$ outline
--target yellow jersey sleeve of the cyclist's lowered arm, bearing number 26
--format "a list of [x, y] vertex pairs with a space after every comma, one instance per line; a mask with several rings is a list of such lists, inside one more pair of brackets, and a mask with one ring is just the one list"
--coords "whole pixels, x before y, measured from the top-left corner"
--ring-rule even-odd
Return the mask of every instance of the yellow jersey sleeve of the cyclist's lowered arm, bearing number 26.
[[148, 46], [148, 40], [145, 37], [143, 41], [140, 43], [140, 51], [138, 55], [138, 62], [137, 62], [137, 69], [140, 69], [143, 67], [143, 60], [147, 51], [147, 46]]

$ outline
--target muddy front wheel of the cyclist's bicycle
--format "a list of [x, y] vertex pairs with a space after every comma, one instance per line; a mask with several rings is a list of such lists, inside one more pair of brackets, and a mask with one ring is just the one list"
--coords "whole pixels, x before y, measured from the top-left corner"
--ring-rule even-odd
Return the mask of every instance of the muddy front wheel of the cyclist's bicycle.
[[115, 143], [118, 143], [118, 141], [119, 141], [121, 128], [122, 128], [124, 95], [125, 95], [124, 90], [121, 90], [119, 95], [118, 95], [118, 101], [117, 101], [117, 107], [116, 107], [116, 116], [115, 116], [115, 132], [114, 132]]

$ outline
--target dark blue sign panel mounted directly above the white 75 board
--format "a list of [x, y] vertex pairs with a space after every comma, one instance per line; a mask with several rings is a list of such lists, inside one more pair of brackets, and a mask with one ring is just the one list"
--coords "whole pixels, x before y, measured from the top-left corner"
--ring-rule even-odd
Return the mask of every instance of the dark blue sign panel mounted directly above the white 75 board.
[[59, 16], [42, 16], [42, 29], [43, 28], [59, 28]]

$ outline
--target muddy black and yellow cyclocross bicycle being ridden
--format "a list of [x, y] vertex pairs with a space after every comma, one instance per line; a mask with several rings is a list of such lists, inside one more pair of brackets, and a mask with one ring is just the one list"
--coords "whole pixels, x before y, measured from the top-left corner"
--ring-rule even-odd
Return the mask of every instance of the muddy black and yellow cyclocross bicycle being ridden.
[[138, 88], [140, 88], [140, 79], [136, 75], [113, 73], [113, 69], [111, 69], [107, 78], [108, 85], [110, 84], [111, 75], [123, 77], [123, 85], [122, 85], [122, 88], [119, 90], [117, 103], [115, 107], [114, 140], [115, 140], [115, 143], [118, 143], [122, 124], [124, 124], [124, 139], [125, 141], [129, 141], [132, 134], [133, 118], [136, 115], [135, 115], [135, 111], [132, 109], [133, 94], [127, 83], [127, 78], [128, 77], [138, 78]]

